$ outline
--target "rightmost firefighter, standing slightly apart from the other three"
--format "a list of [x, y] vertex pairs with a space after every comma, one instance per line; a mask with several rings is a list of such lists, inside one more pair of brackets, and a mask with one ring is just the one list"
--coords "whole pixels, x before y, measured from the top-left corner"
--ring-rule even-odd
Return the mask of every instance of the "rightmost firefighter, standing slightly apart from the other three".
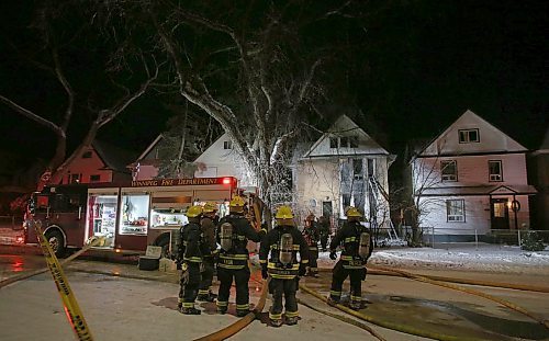
[[347, 276], [350, 277], [349, 307], [358, 310], [362, 307], [361, 281], [366, 280], [366, 262], [373, 251], [371, 230], [360, 224], [362, 214], [350, 206], [346, 212], [347, 221], [337, 231], [329, 243], [329, 258], [336, 260], [336, 249], [343, 246], [341, 255], [333, 270], [329, 304], [337, 304], [341, 298], [341, 287]]

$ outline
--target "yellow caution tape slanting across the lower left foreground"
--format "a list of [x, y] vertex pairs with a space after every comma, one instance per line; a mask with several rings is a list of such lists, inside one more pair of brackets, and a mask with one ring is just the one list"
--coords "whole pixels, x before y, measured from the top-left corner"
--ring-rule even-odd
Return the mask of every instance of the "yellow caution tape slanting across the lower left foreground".
[[78, 340], [80, 341], [91, 341], [93, 338], [91, 337], [90, 329], [86, 323], [82, 311], [78, 306], [75, 295], [70, 289], [69, 283], [65, 273], [63, 272], [63, 268], [55, 257], [55, 253], [49, 246], [49, 242], [46, 240], [46, 237], [42, 232], [42, 223], [34, 221], [34, 229], [36, 230], [36, 236], [38, 236], [40, 246], [42, 247], [42, 251], [46, 258], [47, 268], [52, 272], [52, 276], [54, 277], [55, 285], [57, 286], [57, 291], [59, 292], [59, 296], [61, 297], [63, 305], [65, 307], [65, 312], [67, 318], [72, 327], [72, 330], [76, 332]]

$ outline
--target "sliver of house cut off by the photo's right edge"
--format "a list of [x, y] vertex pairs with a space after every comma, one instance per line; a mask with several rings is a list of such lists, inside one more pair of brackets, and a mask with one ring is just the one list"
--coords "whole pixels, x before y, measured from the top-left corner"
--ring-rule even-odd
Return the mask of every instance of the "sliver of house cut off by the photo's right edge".
[[549, 229], [549, 129], [545, 135], [544, 141], [538, 150], [531, 154], [530, 174], [536, 189], [539, 193], [536, 195], [534, 205], [536, 219], [531, 224], [535, 230]]

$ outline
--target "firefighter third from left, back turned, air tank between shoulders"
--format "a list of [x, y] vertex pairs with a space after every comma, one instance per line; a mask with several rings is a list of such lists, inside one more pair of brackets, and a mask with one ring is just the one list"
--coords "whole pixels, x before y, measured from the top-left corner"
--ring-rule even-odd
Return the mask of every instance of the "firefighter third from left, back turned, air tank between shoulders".
[[[298, 323], [298, 300], [295, 292], [299, 276], [305, 274], [309, 263], [309, 246], [303, 235], [293, 223], [293, 213], [289, 206], [281, 206], [274, 216], [276, 226], [267, 234], [259, 249], [261, 276], [271, 277], [269, 292], [272, 294], [272, 307], [269, 310], [271, 326], [282, 326], [282, 296], [285, 298], [285, 322]], [[298, 251], [301, 262], [298, 262]], [[270, 258], [267, 260], [267, 258]]]

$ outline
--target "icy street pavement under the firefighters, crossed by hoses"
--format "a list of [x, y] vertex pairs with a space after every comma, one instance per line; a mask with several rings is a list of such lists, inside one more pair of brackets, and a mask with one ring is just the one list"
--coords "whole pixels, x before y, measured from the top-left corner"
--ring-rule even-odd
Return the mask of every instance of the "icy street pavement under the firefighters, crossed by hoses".
[[[2, 280], [21, 271], [45, 265], [40, 255], [0, 254]], [[546, 276], [536, 274], [501, 274], [466, 271], [414, 271], [449, 277], [500, 283], [547, 285]], [[213, 303], [200, 303], [201, 316], [183, 316], [177, 311], [176, 274], [138, 271], [135, 265], [94, 261], [72, 261], [66, 268], [69, 284], [78, 299], [96, 340], [193, 340], [224, 328], [237, 320], [234, 307], [229, 314], [215, 314]], [[257, 272], [250, 280], [250, 302], [260, 294]], [[138, 280], [138, 279], [147, 280]], [[320, 279], [305, 277], [305, 284], [322, 295], [329, 292], [330, 273]], [[348, 284], [348, 282], [347, 282]], [[469, 286], [512, 302], [536, 316], [549, 317], [549, 294]], [[214, 287], [216, 291], [216, 287]], [[345, 315], [301, 291], [298, 297], [320, 310]], [[389, 323], [401, 330], [422, 330], [429, 334], [452, 336], [471, 340], [544, 340], [548, 330], [531, 318], [502, 305], [470, 294], [395, 276], [369, 275], [363, 284], [369, 303], [360, 312], [374, 323]], [[56, 286], [47, 272], [0, 288], [0, 328], [2, 340], [75, 340]], [[231, 302], [234, 302], [234, 292]], [[295, 327], [267, 327], [267, 308], [231, 340], [280, 340], [306, 338], [315, 340], [377, 340], [367, 331], [300, 305], [301, 321]], [[363, 322], [363, 321], [362, 321]], [[368, 323], [386, 340], [428, 340]]]

